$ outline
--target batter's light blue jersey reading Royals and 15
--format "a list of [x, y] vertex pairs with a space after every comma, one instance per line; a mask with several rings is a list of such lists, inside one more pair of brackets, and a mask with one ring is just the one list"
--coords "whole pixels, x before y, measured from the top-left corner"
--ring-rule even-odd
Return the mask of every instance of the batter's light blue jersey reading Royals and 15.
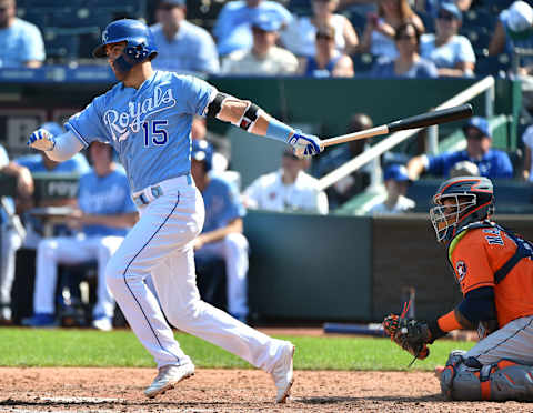
[[122, 82], [73, 115], [66, 128], [84, 147], [113, 145], [133, 192], [191, 169], [191, 124], [217, 89], [194, 77], [154, 71], [139, 89]]

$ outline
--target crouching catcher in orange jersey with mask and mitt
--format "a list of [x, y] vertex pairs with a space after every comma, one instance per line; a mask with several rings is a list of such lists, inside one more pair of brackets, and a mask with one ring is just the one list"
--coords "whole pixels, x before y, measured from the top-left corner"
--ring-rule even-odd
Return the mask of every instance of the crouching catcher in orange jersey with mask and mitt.
[[415, 357], [457, 329], [477, 328], [479, 343], [453, 351], [440, 374], [452, 400], [533, 401], [533, 244], [491, 221], [493, 185], [482, 177], [441, 184], [430, 210], [436, 240], [447, 246], [463, 301], [432, 321], [391, 314], [391, 339]]

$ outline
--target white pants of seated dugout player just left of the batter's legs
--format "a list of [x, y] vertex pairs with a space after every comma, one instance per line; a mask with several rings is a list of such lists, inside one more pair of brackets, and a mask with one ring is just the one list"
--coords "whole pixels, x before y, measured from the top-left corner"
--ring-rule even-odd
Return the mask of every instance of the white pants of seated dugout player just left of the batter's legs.
[[33, 312], [53, 314], [58, 264], [98, 261], [98, 291], [93, 315], [113, 316], [114, 300], [105, 283], [105, 266], [122, 243], [123, 236], [59, 236], [43, 239], [37, 246]]

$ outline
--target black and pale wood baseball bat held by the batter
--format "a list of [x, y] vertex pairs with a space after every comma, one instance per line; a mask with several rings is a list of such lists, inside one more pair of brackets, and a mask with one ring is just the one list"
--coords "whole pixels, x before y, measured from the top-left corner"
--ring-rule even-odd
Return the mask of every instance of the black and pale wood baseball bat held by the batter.
[[358, 139], [366, 139], [388, 134], [391, 132], [403, 131], [405, 129], [416, 129], [431, 127], [432, 124], [440, 124], [452, 122], [455, 120], [470, 118], [472, 115], [472, 105], [470, 103], [461, 104], [449, 109], [435, 110], [433, 112], [418, 114], [415, 117], [400, 119], [394, 122], [382, 124], [380, 127], [370, 128], [364, 131], [343, 134], [341, 137], [324, 139], [320, 142], [322, 147], [330, 147], [332, 144], [344, 143]]

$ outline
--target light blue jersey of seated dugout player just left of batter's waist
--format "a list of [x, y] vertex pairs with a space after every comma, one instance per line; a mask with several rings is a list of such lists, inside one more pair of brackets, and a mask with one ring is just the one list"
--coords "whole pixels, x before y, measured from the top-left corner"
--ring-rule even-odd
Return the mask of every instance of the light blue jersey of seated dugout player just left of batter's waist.
[[[135, 212], [137, 208], [130, 197], [130, 185], [122, 169], [117, 169], [105, 177], [94, 171], [80, 178], [78, 205], [88, 214], [109, 214]], [[128, 229], [105, 225], [84, 225], [88, 236], [125, 236]]]

